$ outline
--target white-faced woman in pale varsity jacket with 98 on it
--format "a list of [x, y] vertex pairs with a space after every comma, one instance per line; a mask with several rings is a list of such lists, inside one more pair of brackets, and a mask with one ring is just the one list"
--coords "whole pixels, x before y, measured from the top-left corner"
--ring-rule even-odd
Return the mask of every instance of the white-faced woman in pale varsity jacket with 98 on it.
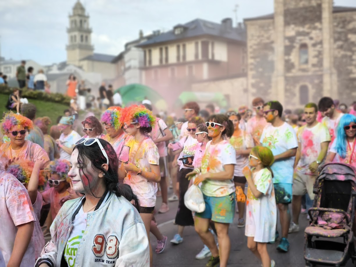
[[129, 185], [117, 182], [114, 148], [103, 139], [81, 138], [70, 164], [73, 190], [85, 195], [59, 210], [35, 267], [150, 266], [138, 199]]

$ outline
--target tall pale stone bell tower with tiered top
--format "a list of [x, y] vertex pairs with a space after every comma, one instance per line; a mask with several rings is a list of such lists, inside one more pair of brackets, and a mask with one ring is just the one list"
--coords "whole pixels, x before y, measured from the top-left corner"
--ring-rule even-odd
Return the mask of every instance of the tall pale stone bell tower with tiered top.
[[77, 0], [73, 6], [73, 13], [69, 14], [67, 50], [67, 64], [79, 66], [79, 60], [93, 55], [94, 46], [91, 45], [91, 28], [89, 15], [85, 14], [82, 3]]

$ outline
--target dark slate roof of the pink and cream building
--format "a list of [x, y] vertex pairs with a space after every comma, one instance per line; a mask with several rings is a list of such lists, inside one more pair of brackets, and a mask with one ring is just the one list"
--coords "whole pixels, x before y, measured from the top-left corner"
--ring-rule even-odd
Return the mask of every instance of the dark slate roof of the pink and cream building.
[[[174, 28], [184, 27], [185, 30], [182, 33], [175, 34]], [[169, 42], [189, 37], [211, 35], [217, 37], [223, 37], [234, 41], [246, 42], [246, 30], [245, 28], [226, 29], [223, 24], [215, 23], [202, 19], [195, 19], [185, 24], [178, 24], [174, 26], [173, 30], [164, 32], [153, 36], [150, 40], [140, 43], [138, 47], [144, 47], [153, 45], [155, 43]]]

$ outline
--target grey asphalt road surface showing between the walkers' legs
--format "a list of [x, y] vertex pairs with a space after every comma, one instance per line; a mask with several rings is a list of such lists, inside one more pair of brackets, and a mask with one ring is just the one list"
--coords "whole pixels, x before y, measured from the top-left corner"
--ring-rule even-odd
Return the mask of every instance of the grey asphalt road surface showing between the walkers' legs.
[[[161, 205], [161, 198], [157, 198], [157, 207]], [[177, 211], [178, 202], [169, 203], [170, 210], [166, 214], [156, 214], [159, 229], [163, 235], [168, 236], [168, 241], [171, 240], [174, 234], [177, 233], [177, 226], [173, 222]], [[236, 214], [237, 215], [237, 214]], [[290, 242], [290, 249], [287, 253], [281, 253], [276, 250], [278, 243], [268, 245], [268, 252], [276, 266], [283, 267], [304, 267], [304, 228], [307, 225], [307, 215], [302, 214], [299, 219], [302, 230], [298, 233], [290, 234], [288, 239]], [[166, 222], [166, 223], [165, 223]], [[160, 224], [160, 225], [159, 225]], [[279, 226], [278, 226], [279, 227]], [[280, 229], [280, 227], [279, 227]], [[279, 232], [281, 232], [279, 230]], [[231, 252], [229, 258], [229, 265], [234, 267], [257, 267], [261, 266], [255, 256], [248, 250], [247, 238], [245, 236], [245, 228], [237, 227], [237, 216], [235, 216], [234, 223], [230, 225], [229, 235], [231, 239]], [[157, 246], [156, 238], [151, 234], [150, 236], [153, 251]], [[195, 255], [203, 248], [199, 236], [194, 231], [194, 227], [186, 227], [183, 234], [183, 243], [179, 245], [172, 245], [168, 242], [165, 250], [161, 254], [154, 253], [153, 266], [155, 267], [203, 267], [208, 259], [196, 260]], [[346, 267], [354, 266], [351, 260]]]

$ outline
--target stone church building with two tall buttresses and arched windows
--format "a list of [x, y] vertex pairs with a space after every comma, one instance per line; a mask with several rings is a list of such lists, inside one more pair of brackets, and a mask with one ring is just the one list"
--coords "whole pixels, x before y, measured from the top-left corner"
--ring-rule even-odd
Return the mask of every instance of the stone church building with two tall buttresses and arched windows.
[[245, 19], [248, 103], [299, 108], [331, 96], [356, 100], [356, 7], [333, 0], [274, 0], [274, 14]]

